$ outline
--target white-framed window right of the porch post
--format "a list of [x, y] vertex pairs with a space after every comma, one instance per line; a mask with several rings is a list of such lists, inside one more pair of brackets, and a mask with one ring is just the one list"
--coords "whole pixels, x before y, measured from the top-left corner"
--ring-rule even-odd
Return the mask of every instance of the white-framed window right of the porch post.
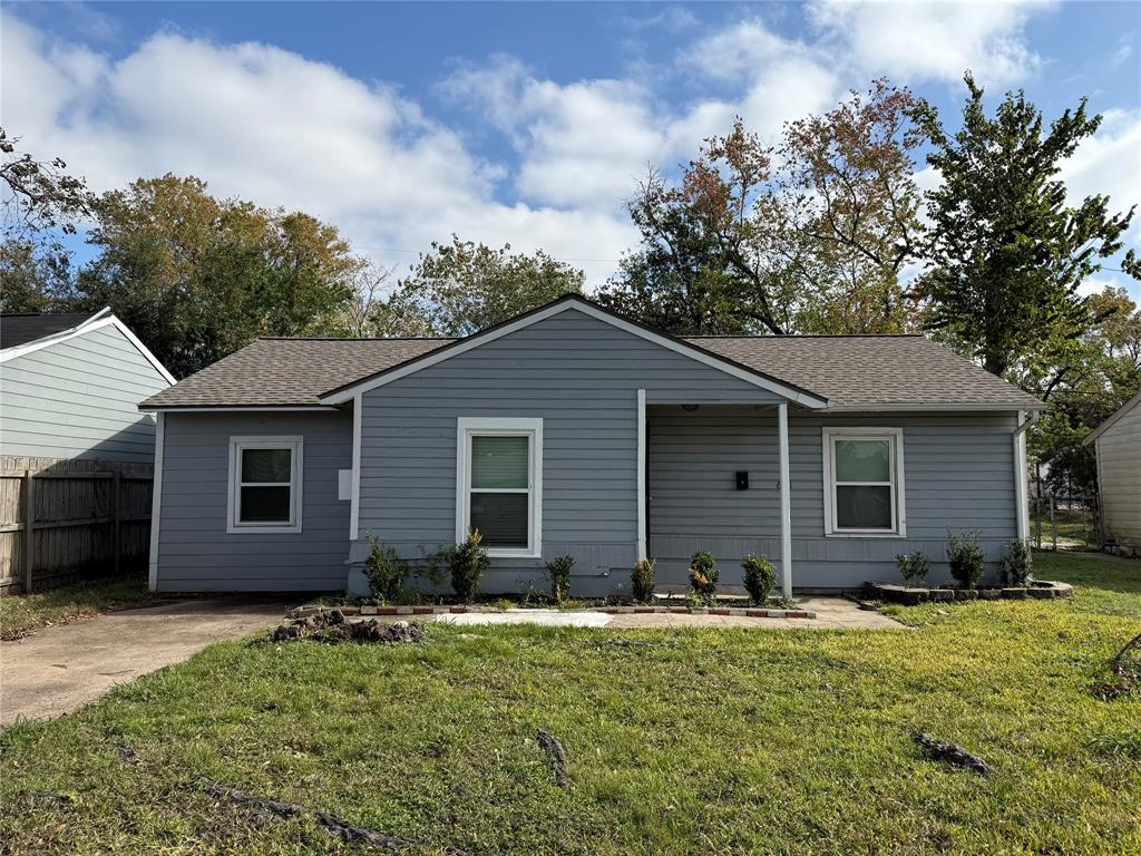
[[900, 428], [824, 429], [824, 534], [905, 534]]

